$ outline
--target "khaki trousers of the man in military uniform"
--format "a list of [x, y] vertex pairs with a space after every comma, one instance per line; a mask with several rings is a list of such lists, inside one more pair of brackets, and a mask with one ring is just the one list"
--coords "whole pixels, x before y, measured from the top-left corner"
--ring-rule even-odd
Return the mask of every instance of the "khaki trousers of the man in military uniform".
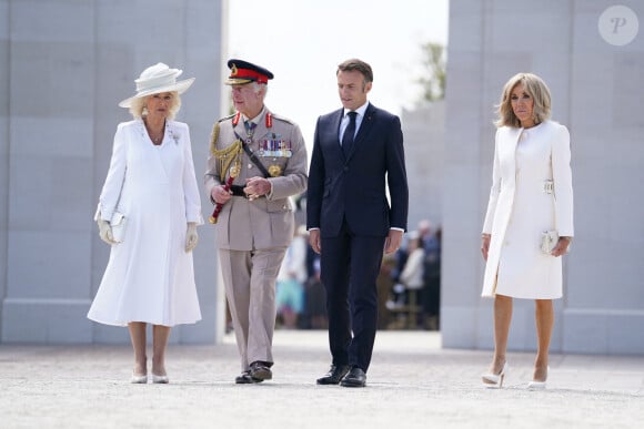
[[256, 360], [273, 362], [275, 283], [285, 253], [286, 247], [219, 249], [242, 372]]

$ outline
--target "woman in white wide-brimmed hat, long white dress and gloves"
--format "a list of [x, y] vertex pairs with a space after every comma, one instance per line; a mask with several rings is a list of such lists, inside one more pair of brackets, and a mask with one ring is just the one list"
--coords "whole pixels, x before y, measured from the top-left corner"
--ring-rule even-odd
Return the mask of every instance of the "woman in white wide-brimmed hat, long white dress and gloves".
[[168, 382], [171, 327], [201, 319], [191, 252], [203, 223], [201, 201], [188, 125], [173, 121], [179, 94], [194, 79], [177, 81], [181, 73], [152, 65], [135, 80], [137, 94], [119, 103], [134, 120], [117, 129], [95, 215], [100, 237], [112, 247], [88, 317], [128, 326], [132, 382], [148, 382], [147, 324], [152, 325], [152, 381]]

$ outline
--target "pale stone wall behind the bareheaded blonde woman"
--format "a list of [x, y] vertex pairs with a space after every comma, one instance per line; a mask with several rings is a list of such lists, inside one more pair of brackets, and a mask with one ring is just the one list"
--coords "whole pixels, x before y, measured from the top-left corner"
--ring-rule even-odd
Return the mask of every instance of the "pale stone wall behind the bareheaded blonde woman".
[[[644, 4], [622, 2], [644, 19]], [[555, 304], [553, 351], [644, 353], [644, 38], [607, 43], [610, 1], [454, 1], [450, 4], [443, 198], [445, 347], [492, 348], [492, 299], [482, 299], [480, 232], [490, 193], [494, 105], [521, 71], [541, 75], [553, 119], [571, 131], [575, 239]], [[640, 25], [642, 28], [642, 25]], [[515, 300], [509, 348], [534, 350], [534, 303]]]

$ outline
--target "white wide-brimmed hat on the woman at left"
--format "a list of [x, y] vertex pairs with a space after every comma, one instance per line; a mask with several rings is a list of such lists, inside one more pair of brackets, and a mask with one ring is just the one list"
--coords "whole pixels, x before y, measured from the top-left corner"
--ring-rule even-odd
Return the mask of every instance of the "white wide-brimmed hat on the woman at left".
[[134, 83], [137, 83], [137, 94], [121, 101], [119, 105], [121, 108], [129, 108], [134, 99], [159, 94], [161, 92], [177, 91], [180, 94], [185, 92], [192, 82], [194, 82], [194, 78], [178, 82], [177, 78], [179, 78], [181, 73], [183, 73], [183, 70], [170, 69], [162, 62], [149, 67], [143, 70], [139, 79], [134, 81]]

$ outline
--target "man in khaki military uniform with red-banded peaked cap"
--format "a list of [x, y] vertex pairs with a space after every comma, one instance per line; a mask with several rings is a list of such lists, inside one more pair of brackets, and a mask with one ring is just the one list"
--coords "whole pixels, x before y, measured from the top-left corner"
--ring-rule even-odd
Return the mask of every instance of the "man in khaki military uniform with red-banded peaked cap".
[[275, 282], [294, 234], [289, 196], [306, 188], [306, 147], [300, 127], [264, 105], [273, 73], [228, 62], [237, 112], [214, 124], [205, 172], [211, 223], [242, 374], [237, 384], [272, 378]]

